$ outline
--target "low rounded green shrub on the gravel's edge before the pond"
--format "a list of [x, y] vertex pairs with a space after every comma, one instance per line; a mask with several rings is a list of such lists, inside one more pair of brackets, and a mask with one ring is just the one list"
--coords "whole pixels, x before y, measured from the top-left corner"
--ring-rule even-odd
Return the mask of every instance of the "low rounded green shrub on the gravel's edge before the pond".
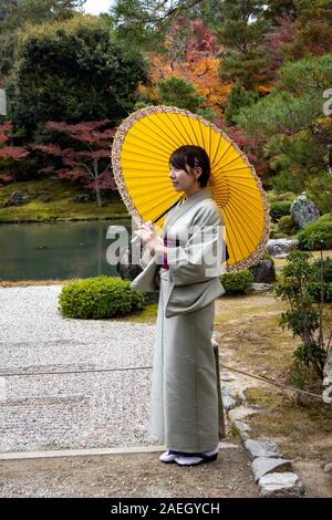
[[116, 277], [87, 278], [62, 289], [59, 309], [65, 318], [103, 319], [129, 314], [145, 306], [144, 294]]

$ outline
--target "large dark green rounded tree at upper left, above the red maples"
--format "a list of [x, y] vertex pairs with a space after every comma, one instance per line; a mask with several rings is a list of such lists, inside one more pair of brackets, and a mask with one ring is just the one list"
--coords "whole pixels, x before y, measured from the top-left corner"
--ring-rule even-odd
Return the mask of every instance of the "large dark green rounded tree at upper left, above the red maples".
[[25, 25], [8, 85], [9, 113], [33, 138], [46, 121], [115, 123], [136, 102], [146, 80], [139, 54], [125, 56], [107, 24], [77, 14], [72, 20]]

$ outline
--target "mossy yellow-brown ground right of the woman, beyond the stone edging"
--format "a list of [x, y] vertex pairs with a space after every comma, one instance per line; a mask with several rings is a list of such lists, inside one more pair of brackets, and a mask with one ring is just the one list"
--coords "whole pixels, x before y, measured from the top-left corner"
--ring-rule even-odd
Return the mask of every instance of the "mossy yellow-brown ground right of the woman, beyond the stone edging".
[[[322, 394], [315, 375], [311, 371], [298, 373], [292, 364], [299, 341], [278, 324], [286, 303], [268, 292], [220, 299], [217, 305], [220, 370], [232, 366], [277, 384]], [[331, 329], [331, 306], [326, 312]], [[332, 474], [324, 472], [324, 466], [332, 462], [332, 405], [234, 374], [249, 386], [248, 403], [261, 407], [246, 419], [251, 438], [271, 438], [278, 444], [282, 456], [292, 461], [307, 497], [331, 498]]]

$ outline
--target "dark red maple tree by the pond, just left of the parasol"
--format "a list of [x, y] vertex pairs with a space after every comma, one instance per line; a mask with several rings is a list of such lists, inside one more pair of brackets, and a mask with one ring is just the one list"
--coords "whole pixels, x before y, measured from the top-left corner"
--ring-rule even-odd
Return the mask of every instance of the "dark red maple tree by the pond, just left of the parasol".
[[[62, 168], [55, 169], [48, 166], [39, 171], [41, 174], [54, 173], [60, 178], [71, 181], [83, 181], [85, 187], [95, 191], [97, 205], [102, 206], [101, 191], [116, 189], [114, 178], [110, 173], [111, 142], [115, 128], [105, 128], [108, 123], [108, 119], [103, 119], [70, 125], [64, 122], [49, 121], [45, 124], [48, 132], [65, 134], [77, 142], [80, 147], [76, 149], [73, 145], [73, 147], [63, 148], [54, 143], [33, 146], [33, 149], [38, 152], [62, 159]], [[105, 159], [108, 159], [106, 166]]]

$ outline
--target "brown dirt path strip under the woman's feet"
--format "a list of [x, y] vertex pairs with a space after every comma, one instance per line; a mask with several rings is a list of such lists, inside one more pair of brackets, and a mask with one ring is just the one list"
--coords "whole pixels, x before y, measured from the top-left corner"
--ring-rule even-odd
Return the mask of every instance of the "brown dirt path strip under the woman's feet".
[[0, 497], [226, 498], [257, 497], [248, 457], [220, 450], [216, 461], [190, 468], [163, 464], [159, 454], [6, 460]]

